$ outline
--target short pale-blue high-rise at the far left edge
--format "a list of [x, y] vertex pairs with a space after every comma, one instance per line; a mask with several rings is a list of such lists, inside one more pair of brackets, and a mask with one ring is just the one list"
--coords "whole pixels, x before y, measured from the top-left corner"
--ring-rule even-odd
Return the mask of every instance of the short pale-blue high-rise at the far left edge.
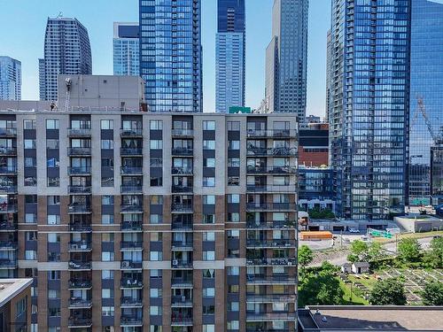
[[21, 99], [21, 62], [0, 56], [0, 100]]

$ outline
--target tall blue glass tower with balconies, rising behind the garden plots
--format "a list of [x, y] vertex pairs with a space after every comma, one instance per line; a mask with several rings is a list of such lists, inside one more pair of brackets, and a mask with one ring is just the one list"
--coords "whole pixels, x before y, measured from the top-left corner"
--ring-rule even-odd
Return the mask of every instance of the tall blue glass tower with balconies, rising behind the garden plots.
[[333, 0], [330, 158], [338, 213], [404, 212], [411, 0]]

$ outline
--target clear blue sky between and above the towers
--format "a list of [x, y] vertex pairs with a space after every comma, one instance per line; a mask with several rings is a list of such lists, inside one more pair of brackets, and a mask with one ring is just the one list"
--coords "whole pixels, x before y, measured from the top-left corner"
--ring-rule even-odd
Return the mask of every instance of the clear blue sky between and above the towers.
[[[217, 1], [201, 2], [204, 109], [213, 112]], [[272, 4], [273, 0], [246, 0], [246, 104], [253, 107], [264, 95]], [[307, 113], [323, 116], [330, 0], [311, 0], [309, 5]], [[48, 16], [62, 12], [88, 28], [95, 74], [113, 73], [113, 22], [138, 20], [138, 0], [0, 0], [0, 9], [0, 55], [21, 61], [22, 99], [38, 98], [38, 58], [43, 56]]]

